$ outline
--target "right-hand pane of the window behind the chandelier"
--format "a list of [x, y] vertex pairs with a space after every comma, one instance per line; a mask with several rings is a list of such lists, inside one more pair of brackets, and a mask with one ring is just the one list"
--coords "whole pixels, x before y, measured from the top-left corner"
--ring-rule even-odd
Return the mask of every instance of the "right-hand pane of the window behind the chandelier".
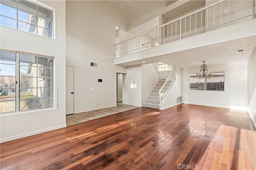
[[224, 71], [212, 73], [212, 78], [206, 80], [206, 90], [224, 91]]

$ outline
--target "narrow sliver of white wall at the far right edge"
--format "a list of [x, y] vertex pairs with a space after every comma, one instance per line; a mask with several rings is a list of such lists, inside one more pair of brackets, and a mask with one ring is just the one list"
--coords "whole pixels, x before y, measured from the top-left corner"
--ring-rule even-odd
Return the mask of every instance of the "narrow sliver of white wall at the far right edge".
[[256, 127], [256, 47], [248, 59], [247, 73], [248, 112]]

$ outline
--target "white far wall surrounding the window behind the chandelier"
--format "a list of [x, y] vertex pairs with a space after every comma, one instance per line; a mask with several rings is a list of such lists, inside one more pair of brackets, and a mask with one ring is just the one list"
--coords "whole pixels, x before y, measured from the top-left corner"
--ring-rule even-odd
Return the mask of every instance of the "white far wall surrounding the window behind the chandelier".
[[188, 74], [199, 69], [182, 69], [183, 103], [247, 110], [247, 62], [208, 65], [212, 71], [225, 71], [224, 91], [190, 91]]

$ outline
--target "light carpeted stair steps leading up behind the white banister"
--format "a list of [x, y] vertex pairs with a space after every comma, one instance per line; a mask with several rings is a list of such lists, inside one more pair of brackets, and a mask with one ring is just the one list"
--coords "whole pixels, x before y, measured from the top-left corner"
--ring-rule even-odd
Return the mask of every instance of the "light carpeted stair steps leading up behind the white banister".
[[158, 83], [156, 83], [155, 88], [150, 93], [150, 96], [148, 96], [148, 99], [146, 99], [146, 103], [143, 104], [144, 107], [154, 108], [154, 109], [160, 109], [160, 96], [159, 91], [161, 87], [164, 85], [165, 79], [159, 78]]

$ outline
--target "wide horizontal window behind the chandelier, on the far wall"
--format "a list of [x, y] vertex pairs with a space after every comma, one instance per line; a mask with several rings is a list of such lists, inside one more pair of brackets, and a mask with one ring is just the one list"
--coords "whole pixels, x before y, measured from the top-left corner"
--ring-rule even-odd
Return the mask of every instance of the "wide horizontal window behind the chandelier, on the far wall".
[[224, 71], [214, 71], [210, 79], [197, 79], [196, 73], [189, 74], [190, 90], [224, 91]]

